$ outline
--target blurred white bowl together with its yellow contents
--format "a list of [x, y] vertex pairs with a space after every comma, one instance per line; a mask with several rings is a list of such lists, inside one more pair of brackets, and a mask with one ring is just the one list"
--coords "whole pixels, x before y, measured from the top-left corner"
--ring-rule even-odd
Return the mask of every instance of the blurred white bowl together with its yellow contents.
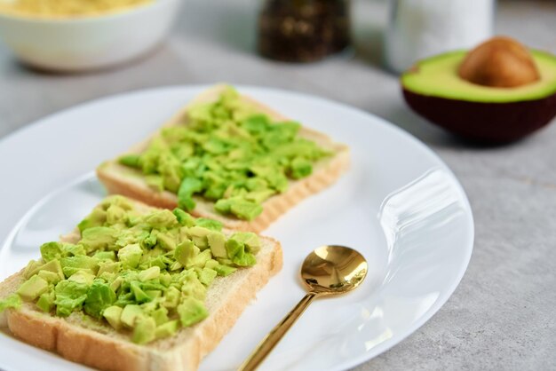
[[115, 66], [151, 51], [168, 34], [182, 0], [0, 4], [0, 39], [23, 63], [72, 72]]

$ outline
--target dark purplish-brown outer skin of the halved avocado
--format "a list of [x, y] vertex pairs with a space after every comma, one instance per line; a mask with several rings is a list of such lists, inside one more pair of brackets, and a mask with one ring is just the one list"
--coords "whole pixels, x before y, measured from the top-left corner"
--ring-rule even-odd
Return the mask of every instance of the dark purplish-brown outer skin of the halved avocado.
[[402, 89], [403, 97], [417, 114], [457, 135], [483, 143], [503, 144], [523, 138], [556, 115], [556, 92], [543, 99], [482, 103]]

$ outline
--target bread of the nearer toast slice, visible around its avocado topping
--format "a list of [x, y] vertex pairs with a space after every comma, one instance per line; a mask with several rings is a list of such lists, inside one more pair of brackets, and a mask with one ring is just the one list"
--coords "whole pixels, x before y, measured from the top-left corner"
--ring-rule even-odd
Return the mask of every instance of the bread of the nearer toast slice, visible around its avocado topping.
[[[139, 209], [153, 209], [136, 203]], [[223, 230], [230, 233], [230, 231]], [[234, 326], [257, 291], [282, 268], [282, 249], [278, 241], [259, 236], [262, 246], [257, 264], [217, 277], [207, 291], [205, 305], [209, 316], [192, 327], [181, 328], [171, 337], [147, 345], [132, 343], [130, 335], [115, 331], [106, 322], [73, 312], [66, 318], [41, 312], [36, 304], [23, 303], [19, 309], [0, 312], [0, 328], [65, 359], [109, 371], [196, 370], [203, 357], [212, 351]], [[79, 241], [75, 231], [60, 241]], [[0, 300], [12, 295], [25, 281], [23, 270], [0, 283]]]

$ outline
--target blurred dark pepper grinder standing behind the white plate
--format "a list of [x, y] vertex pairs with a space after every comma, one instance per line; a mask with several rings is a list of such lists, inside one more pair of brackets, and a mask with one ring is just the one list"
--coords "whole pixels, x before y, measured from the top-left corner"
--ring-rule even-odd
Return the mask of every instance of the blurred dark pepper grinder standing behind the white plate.
[[350, 43], [350, 0], [265, 0], [258, 51], [269, 59], [311, 62]]

